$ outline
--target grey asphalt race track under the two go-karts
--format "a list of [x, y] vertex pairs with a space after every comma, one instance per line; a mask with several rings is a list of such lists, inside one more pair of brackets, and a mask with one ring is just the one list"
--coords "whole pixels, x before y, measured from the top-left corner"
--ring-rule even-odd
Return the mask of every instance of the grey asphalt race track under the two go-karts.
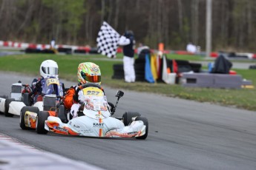
[[[0, 95], [10, 95], [10, 85], [19, 80], [30, 84], [33, 78], [0, 72]], [[105, 87], [108, 101], [115, 102], [116, 90]], [[145, 115], [146, 140], [37, 135], [20, 129], [19, 117], [4, 115], [0, 133], [102, 169], [256, 169], [256, 112], [123, 91], [114, 116]]]

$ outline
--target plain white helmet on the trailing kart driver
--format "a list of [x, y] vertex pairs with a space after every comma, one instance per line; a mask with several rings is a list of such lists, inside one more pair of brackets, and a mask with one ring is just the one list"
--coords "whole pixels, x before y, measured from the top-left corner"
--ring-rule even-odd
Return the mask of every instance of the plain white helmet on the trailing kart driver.
[[43, 78], [50, 76], [58, 77], [58, 64], [53, 60], [43, 61], [40, 66], [40, 75]]

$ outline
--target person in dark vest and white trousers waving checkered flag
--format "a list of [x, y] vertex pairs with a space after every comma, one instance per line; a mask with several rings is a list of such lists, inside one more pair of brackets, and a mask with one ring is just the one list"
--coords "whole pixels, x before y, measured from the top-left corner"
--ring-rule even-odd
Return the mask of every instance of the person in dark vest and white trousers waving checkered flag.
[[119, 39], [119, 45], [123, 46], [125, 82], [135, 82], [136, 77], [134, 70], [134, 33], [131, 30], [126, 31], [125, 34], [122, 35]]

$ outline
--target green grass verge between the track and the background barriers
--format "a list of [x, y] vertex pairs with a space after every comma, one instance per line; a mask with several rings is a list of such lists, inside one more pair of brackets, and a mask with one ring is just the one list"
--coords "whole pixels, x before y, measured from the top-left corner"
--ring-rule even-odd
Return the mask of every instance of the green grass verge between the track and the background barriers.
[[[197, 55], [168, 55], [168, 58], [205, 61], [205, 58]], [[76, 69], [80, 63], [91, 61], [98, 64], [101, 68], [102, 86], [106, 85], [116, 89], [129, 89], [138, 92], [154, 92], [173, 98], [184, 98], [200, 102], [217, 103], [223, 106], [235, 106], [242, 109], [256, 110], [256, 89], [186, 88], [179, 84], [149, 84], [147, 82], [125, 84], [123, 80], [112, 79], [113, 64], [122, 64], [122, 55], [117, 55], [114, 59], [102, 55], [8, 55], [0, 58], [0, 70], [39, 76], [39, 66], [46, 59], [56, 61], [59, 64], [59, 77], [69, 81], [76, 81]], [[237, 74], [242, 75], [243, 78], [251, 80], [253, 85], [256, 86], [256, 72], [254, 69], [234, 70]]]

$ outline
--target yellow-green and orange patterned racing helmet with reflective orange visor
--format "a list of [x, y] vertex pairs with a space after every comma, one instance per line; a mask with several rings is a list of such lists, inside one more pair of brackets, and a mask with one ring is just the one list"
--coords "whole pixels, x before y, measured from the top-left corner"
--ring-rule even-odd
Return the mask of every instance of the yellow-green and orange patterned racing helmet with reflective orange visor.
[[101, 84], [101, 73], [99, 66], [91, 62], [79, 64], [77, 69], [77, 79], [80, 84]]

